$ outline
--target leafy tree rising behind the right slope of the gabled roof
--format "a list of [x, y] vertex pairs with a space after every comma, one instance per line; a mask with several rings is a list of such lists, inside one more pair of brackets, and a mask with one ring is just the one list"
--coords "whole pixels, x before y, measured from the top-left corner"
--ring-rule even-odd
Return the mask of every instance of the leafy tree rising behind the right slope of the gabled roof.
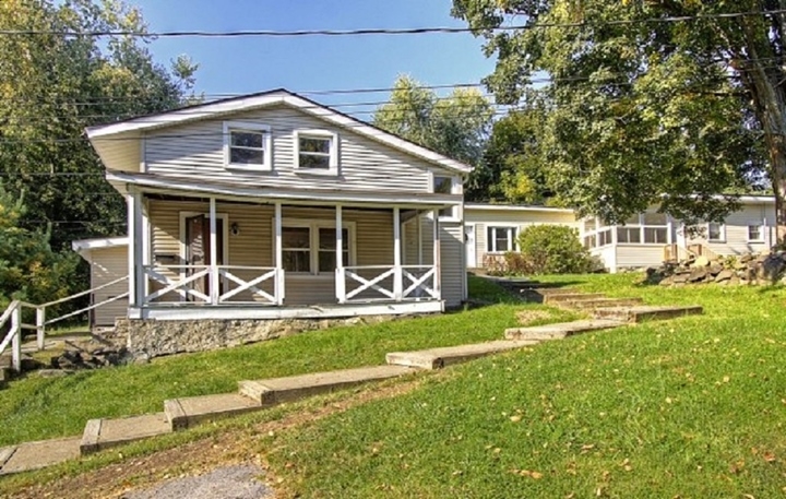
[[400, 76], [393, 88], [390, 102], [374, 112], [373, 124], [475, 166], [465, 195], [485, 198], [489, 177], [483, 154], [493, 117], [491, 103], [478, 91], [466, 88], [439, 97], [409, 76]]

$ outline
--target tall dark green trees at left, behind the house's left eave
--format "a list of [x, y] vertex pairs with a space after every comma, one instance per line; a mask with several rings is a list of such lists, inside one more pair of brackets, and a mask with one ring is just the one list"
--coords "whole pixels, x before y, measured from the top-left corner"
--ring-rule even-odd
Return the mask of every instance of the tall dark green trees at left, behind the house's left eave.
[[186, 57], [157, 64], [146, 39], [57, 32], [145, 33], [139, 10], [107, 0], [3, 0], [0, 28], [0, 178], [25, 192], [20, 224], [52, 224], [56, 250], [126, 230], [124, 203], [106, 182], [85, 127], [178, 106], [196, 69]]

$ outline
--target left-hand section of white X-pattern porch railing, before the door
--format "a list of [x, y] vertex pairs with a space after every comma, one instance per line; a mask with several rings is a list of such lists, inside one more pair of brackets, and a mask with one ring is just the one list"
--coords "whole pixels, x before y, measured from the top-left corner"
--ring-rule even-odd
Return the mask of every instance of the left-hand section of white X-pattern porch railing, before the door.
[[[252, 274], [240, 277], [238, 274]], [[158, 289], [144, 297], [144, 305], [283, 305], [284, 270], [269, 266], [146, 265], [145, 278]], [[198, 283], [203, 280], [200, 286]], [[217, 289], [218, 293], [211, 293]]]

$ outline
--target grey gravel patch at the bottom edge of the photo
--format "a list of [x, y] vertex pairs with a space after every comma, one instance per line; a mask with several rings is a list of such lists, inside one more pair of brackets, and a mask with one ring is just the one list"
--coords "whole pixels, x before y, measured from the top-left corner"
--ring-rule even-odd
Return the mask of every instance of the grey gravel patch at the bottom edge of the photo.
[[147, 490], [122, 496], [122, 499], [264, 499], [273, 490], [260, 482], [264, 468], [251, 464], [225, 466], [200, 476], [164, 482]]

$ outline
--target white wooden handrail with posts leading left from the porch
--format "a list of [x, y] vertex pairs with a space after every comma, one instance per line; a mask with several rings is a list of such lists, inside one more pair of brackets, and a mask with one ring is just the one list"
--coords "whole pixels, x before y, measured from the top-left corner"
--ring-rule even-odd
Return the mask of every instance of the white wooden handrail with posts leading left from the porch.
[[[122, 283], [123, 281], [128, 281], [127, 275], [116, 278], [115, 281], [103, 284], [100, 286], [94, 287], [92, 289], [87, 289], [86, 292], [76, 293], [75, 295], [67, 296], [66, 298], [60, 298], [58, 300], [49, 301], [44, 305], [33, 305], [33, 304], [27, 304], [27, 302], [20, 301], [20, 300], [11, 301], [11, 304], [8, 306], [8, 308], [2, 313], [2, 316], [0, 316], [0, 331], [3, 330], [5, 324], [10, 324], [8, 333], [5, 333], [5, 336], [3, 337], [2, 343], [0, 343], [0, 355], [2, 355], [3, 352], [5, 352], [5, 348], [8, 348], [9, 345], [11, 345], [11, 367], [17, 372], [21, 371], [22, 370], [22, 333], [24, 330], [33, 330], [36, 332], [36, 347], [38, 351], [43, 351], [45, 347], [46, 326], [47, 325], [53, 324], [56, 322], [60, 322], [64, 319], [78, 316], [80, 313], [84, 313], [88, 310], [93, 310], [93, 309], [103, 307], [112, 301], [117, 301], [119, 299], [127, 298], [129, 296], [129, 294], [122, 293], [120, 295], [112, 296], [111, 298], [108, 298], [98, 304], [93, 304], [87, 307], [81, 308], [79, 310], [74, 310], [72, 312], [51, 318], [49, 320], [47, 320], [47, 308], [52, 307], [55, 305], [64, 304], [72, 299], [88, 295], [91, 293], [104, 289], [109, 286], [114, 286], [116, 284]], [[22, 322], [23, 310], [25, 308], [36, 311], [36, 313], [35, 313], [36, 323], [35, 324], [26, 324], [26, 323]]]

